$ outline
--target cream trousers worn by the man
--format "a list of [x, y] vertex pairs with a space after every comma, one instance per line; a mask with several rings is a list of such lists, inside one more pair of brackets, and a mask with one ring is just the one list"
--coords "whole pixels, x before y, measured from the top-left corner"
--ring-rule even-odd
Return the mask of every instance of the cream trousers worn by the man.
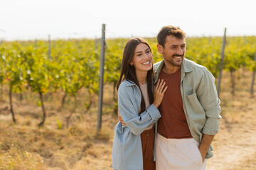
[[156, 170], [204, 170], [198, 149], [199, 143], [193, 138], [166, 139], [157, 134], [156, 139]]

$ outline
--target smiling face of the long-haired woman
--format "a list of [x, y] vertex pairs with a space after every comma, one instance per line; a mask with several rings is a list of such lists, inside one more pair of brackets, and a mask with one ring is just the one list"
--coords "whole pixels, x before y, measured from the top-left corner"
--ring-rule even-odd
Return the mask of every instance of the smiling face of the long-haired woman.
[[130, 64], [133, 64], [137, 74], [148, 72], [153, 67], [153, 57], [149, 47], [140, 43], [134, 51], [134, 57]]

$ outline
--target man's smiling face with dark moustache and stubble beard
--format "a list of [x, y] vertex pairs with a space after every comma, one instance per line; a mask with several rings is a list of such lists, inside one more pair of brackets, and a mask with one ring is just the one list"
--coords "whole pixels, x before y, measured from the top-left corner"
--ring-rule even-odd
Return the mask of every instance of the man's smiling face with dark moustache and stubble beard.
[[171, 67], [180, 67], [186, 53], [185, 38], [178, 39], [174, 35], [168, 35], [164, 47], [157, 45], [158, 51], [163, 55], [164, 62]]

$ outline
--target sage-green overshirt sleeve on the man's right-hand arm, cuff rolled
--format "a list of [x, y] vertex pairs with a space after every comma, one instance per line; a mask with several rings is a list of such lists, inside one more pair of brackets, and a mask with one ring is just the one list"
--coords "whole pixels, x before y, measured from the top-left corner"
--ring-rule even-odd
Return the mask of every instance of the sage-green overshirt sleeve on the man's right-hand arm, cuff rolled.
[[221, 118], [220, 99], [214, 81], [213, 74], [205, 69], [196, 93], [206, 112], [206, 123], [202, 131], [206, 135], [216, 135], [218, 133]]

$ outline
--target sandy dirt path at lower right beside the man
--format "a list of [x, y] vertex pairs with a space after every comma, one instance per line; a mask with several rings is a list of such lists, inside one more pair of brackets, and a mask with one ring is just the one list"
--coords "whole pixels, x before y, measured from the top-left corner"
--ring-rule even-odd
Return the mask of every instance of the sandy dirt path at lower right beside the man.
[[220, 132], [213, 141], [215, 156], [208, 159], [207, 170], [256, 169], [256, 102], [253, 103], [245, 111], [227, 113], [221, 119]]

